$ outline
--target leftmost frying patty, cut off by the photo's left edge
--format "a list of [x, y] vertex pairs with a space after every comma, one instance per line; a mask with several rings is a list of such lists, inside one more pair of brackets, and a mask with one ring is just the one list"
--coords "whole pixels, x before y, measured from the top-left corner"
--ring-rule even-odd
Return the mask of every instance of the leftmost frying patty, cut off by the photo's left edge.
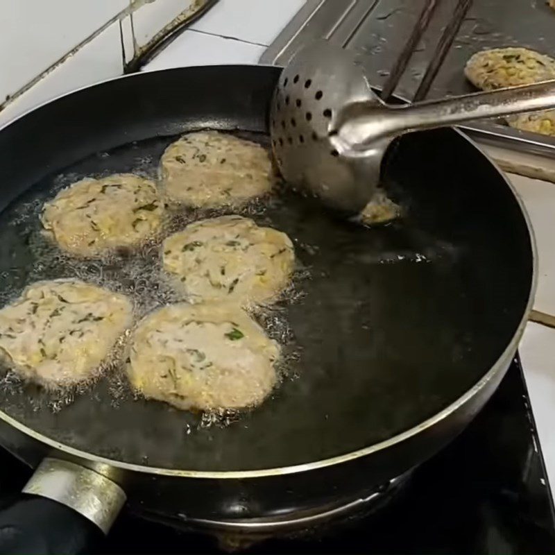
[[133, 323], [119, 293], [77, 280], [37, 282], [0, 310], [0, 352], [20, 375], [49, 388], [99, 372]]

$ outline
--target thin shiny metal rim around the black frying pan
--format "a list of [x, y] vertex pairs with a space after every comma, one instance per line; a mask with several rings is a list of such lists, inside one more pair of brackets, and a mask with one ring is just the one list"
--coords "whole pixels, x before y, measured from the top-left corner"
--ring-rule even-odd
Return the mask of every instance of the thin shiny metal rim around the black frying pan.
[[[275, 66], [262, 65], [262, 64], [234, 64], [231, 67], [245, 67], [245, 66], [273, 67], [275, 69], [279, 69]], [[196, 66], [196, 67], [207, 67], [207, 66]], [[210, 66], [210, 67], [214, 68], [214, 66]], [[219, 66], [219, 67], [222, 67], [222, 66]], [[230, 66], [226, 65], [224, 67], [229, 68]], [[190, 69], [190, 67], [158, 69], [155, 71], [148, 71], [148, 74], [157, 74], [157, 73], [169, 72], [169, 71], [180, 71], [182, 69]], [[19, 116], [15, 117], [14, 119], [11, 119], [7, 123], [4, 123], [3, 125], [0, 126], [0, 133], [8, 126], [16, 123], [17, 121], [19, 121], [19, 119], [25, 117], [27, 114], [34, 112], [35, 110], [40, 110], [40, 108], [44, 107], [45, 105], [58, 101], [64, 98], [65, 96], [71, 96], [76, 92], [79, 92], [85, 89], [90, 89], [96, 86], [101, 86], [101, 85], [104, 85], [105, 83], [110, 83], [116, 80], [127, 79], [127, 78], [141, 78], [142, 75], [144, 75], [144, 73], [128, 74], [128, 75], [123, 75], [115, 78], [110, 78], [110, 79], [100, 81], [99, 83], [94, 83], [93, 85], [86, 85], [85, 87], [80, 87], [79, 89], [75, 89], [71, 92], [67, 92], [65, 94], [56, 96], [53, 99], [45, 101], [40, 105], [37, 105], [29, 110], [26, 110], [25, 112], [23, 112], [22, 114], [19, 114]], [[526, 323], [528, 321], [528, 316], [532, 309], [533, 299], [535, 297], [536, 287], [538, 284], [537, 283], [538, 282], [538, 255], [537, 255], [537, 248], [536, 248], [536, 238], [533, 232], [533, 228], [531, 226], [530, 216], [526, 210], [526, 207], [524, 206], [524, 202], [517, 194], [515, 187], [509, 181], [509, 178], [507, 178], [505, 173], [502, 172], [501, 169], [499, 169], [499, 167], [492, 160], [492, 158], [487, 153], [485, 153], [481, 148], [479, 148], [479, 146], [477, 146], [475, 141], [470, 139], [470, 137], [468, 137], [461, 130], [459, 130], [459, 128], [452, 128], [452, 130], [454, 130], [456, 133], [459, 133], [459, 135], [461, 135], [463, 139], [468, 141], [472, 146], [474, 146], [477, 149], [477, 151], [481, 153], [481, 155], [486, 157], [486, 160], [490, 162], [493, 168], [496, 169], [499, 175], [503, 178], [507, 187], [509, 187], [509, 190], [513, 194], [515, 200], [517, 201], [520, 207], [520, 212], [522, 212], [522, 216], [524, 216], [524, 221], [526, 223], [527, 230], [530, 237], [531, 251], [532, 251], [531, 253], [532, 254], [532, 276], [531, 276], [531, 287], [529, 291], [527, 305], [524, 309], [524, 314], [522, 315], [522, 319], [517, 329], [515, 330], [515, 333], [513, 334], [511, 341], [509, 341], [509, 344], [506, 346], [502, 354], [499, 356], [497, 361], [495, 361], [495, 363], [488, 370], [488, 372], [484, 376], [482, 376], [481, 379], [479, 379], [479, 381], [474, 386], [469, 388], [468, 391], [463, 393], [463, 395], [461, 395], [454, 402], [452, 402], [450, 405], [445, 407], [445, 409], [439, 411], [438, 413], [434, 414], [430, 418], [427, 418], [427, 420], [425, 420], [424, 422], [420, 422], [420, 424], [413, 426], [405, 430], [404, 432], [401, 432], [400, 434], [396, 434], [391, 438], [388, 438], [384, 441], [380, 441], [373, 445], [369, 445], [368, 447], [363, 447], [359, 450], [351, 451], [341, 455], [332, 456], [327, 459], [311, 461], [310, 463], [302, 463], [302, 464], [293, 465], [293, 466], [264, 468], [260, 470], [230, 470], [230, 471], [176, 470], [172, 468], [158, 468], [153, 466], [143, 466], [143, 465], [137, 465], [132, 463], [126, 463], [124, 461], [116, 461], [114, 459], [107, 459], [103, 456], [98, 456], [98, 455], [91, 454], [89, 452], [81, 451], [76, 449], [75, 447], [70, 447], [69, 445], [60, 443], [47, 436], [43, 436], [42, 434], [35, 432], [35, 430], [31, 429], [30, 427], [22, 424], [18, 420], [15, 420], [15, 418], [8, 416], [8, 414], [6, 414], [4, 411], [1, 411], [1, 410], [0, 410], [0, 419], [6, 422], [6, 424], [17, 429], [17, 431], [22, 432], [26, 436], [29, 436], [34, 440], [39, 441], [40, 443], [49, 445], [49, 447], [53, 447], [53, 449], [55, 450], [65, 453], [69, 456], [76, 457], [77, 459], [87, 461], [87, 463], [93, 463], [95, 465], [102, 464], [102, 465], [111, 466], [112, 468], [117, 468], [119, 470], [140, 472], [142, 474], [150, 474], [150, 475], [162, 475], [167, 477], [184, 477], [184, 478], [201, 478], [201, 479], [249, 479], [249, 478], [271, 477], [271, 476], [277, 476], [277, 475], [296, 474], [299, 472], [317, 470], [319, 468], [326, 468], [329, 466], [335, 466], [336, 464], [353, 461], [363, 456], [367, 456], [375, 452], [387, 449], [388, 447], [396, 445], [397, 443], [401, 443], [402, 441], [406, 441], [409, 438], [416, 436], [420, 432], [423, 432], [425, 429], [434, 426], [437, 422], [440, 422], [444, 418], [447, 418], [448, 416], [450, 416], [451, 413], [453, 413], [454, 411], [459, 409], [459, 407], [462, 407], [463, 404], [468, 402], [468, 400], [470, 400], [476, 393], [478, 393], [481, 390], [481, 388], [484, 388], [484, 386], [486, 386], [486, 384], [488, 384], [488, 382], [490, 382], [490, 380], [493, 379], [495, 375], [497, 375], [497, 373], [503, 369], [503, 367], [507, 362], [506, 361], [507, 357], [511, 355], [513, 352], [515, 352], [516, 348], [518, 347], [518, 343], [520, 343], [522, 334], [524, 332], [524, 327], [526, 326]]]

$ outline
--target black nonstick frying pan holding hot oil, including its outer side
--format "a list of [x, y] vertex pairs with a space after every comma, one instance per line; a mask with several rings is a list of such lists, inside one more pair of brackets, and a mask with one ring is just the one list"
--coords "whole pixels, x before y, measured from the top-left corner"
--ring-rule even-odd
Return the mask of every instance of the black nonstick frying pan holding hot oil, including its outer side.
[[[95, 264], [44, 255], [37, 263], [36, 208], [56, 187], [114, 172], [155, 176], [164, 148], [188, 130], [241, 130], [267, 144], [278, 74], [227, 66], [128, 76], [1, 130], [5, 297], [38, 278], [99, 278]], [[32, 466], [46, 454], [99, 472], [107, 463], [132, 506], [192, 521], [332, 502], [427, 459], [486, 402], [514, 355], [533, 293], [533, 244], [511, 187], [454, 130], [400, 139], [385, 181], [406, 216], [381, 228], [343, 221], [287, 189], [248, 209], [289, 234], [309, 275], [298, 279], [299, 299], [262, 318], [298, 357], [261, 407], [204, 428], [196, 415], [135, 400], [115, 377], [60, 405], [4, 379], [3, 445]], [[156, 262], [148, 252], [140, 263]], [[126, 264], [103, 268], [111, 287], [154, 287]]]

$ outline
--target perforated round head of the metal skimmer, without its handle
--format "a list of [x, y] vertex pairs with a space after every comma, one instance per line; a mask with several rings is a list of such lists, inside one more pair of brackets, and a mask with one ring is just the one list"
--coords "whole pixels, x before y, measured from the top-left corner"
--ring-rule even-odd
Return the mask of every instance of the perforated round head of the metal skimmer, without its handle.
[[377, 149], [378, 164], [371, 152], [345, 159], [330, 142], [330, 121], [353, 102], [382, 104], [356, 56], [321, 40], [285, 67], [271, 108], [273, 151], [284, 179], [293, 186], [309, 183], [316, 196], [344, 210], [351, 210], [353, 203], [366, 205], [367, 187], [353, 184], [364, 180], [366, 185], [369, 178], [377, 182], [382, 159], [382, 148]]

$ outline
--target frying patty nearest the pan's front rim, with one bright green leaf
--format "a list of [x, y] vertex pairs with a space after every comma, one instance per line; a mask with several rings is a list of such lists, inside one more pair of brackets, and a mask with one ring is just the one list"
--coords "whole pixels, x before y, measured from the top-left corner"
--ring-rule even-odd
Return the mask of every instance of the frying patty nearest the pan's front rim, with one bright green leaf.
[[255, 407], [276, 382], [278, 343], [243, 309], [225, 302], [168, 305], [133, 333], [130, 384], [178, 409]]

